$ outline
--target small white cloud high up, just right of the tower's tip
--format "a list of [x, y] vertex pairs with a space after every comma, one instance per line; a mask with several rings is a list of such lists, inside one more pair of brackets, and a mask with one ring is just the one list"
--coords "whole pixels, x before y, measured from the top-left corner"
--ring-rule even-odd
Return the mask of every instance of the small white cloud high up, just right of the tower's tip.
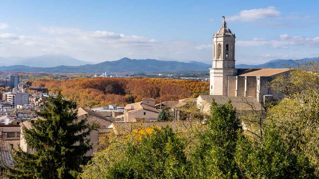
[[252, 21], [256, 19], [272, 18], [272, 17], [278, 17], [278, 16], [280, 16], [280, 12], [276, 10], [276, 7], [268, 6], [266, 8], [240, 11], [236, 15], [227, 17], [227, 20]]

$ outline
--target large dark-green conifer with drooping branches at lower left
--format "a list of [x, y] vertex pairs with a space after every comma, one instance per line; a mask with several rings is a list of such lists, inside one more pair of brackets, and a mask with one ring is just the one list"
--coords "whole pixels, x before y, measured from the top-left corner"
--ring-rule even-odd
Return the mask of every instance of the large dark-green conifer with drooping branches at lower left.
[[87, 138], [92, 131], [87, 120], [77, 120], [77, 104], [63, 98], [58, 91], [31, 120], [31, 128], [22, 125], [23, 137], [28, 147], [35, 150], [28, 154], [19, 148], [13, 152], [15, 165], [7, 168], [8, 178], [75, 178], [80, 165], [88, 161], [86, 152], [92, 148]]

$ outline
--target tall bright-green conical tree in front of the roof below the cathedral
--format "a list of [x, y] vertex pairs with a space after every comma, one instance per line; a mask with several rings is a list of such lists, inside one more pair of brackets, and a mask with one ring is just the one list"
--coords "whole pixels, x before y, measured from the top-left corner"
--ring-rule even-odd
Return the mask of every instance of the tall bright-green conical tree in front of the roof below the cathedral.
[[212, 102], [207, 126], [209, 132], [203, 135], [192, 160], [193, 177], [240, 178], [235, 154], [237, 142], [244, 137], [231, 101], [226, 104]]

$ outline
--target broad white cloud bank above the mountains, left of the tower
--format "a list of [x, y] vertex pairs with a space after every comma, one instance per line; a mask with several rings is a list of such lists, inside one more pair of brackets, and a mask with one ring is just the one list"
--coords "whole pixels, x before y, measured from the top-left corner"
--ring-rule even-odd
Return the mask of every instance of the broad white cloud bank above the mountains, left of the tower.
[[199, 45], [191, 41], [163, 42], [136, 34], [63, 27], [40, 27], [39, 30], [44, 34], [27, 36], [0, 33], [0, 54], [2, 56], [64, 54], [84, 61], [109, 61], [129, 57], [203, 62], [211, 55], [196, 50]]

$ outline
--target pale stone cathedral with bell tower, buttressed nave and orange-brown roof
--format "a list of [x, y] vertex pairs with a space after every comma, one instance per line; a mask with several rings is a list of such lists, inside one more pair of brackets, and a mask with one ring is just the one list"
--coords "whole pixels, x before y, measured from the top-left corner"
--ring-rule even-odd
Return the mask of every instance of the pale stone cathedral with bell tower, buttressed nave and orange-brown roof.
[[282, 94], [267, 87], [266, 83], [291, 69], [235, 68], [235, 34], [222, 27], [213, 35], [213, 57], [210, 70], [210, 95], [228, 97], [255, 97], [260, 103], [266, 98], [279, 99]]

